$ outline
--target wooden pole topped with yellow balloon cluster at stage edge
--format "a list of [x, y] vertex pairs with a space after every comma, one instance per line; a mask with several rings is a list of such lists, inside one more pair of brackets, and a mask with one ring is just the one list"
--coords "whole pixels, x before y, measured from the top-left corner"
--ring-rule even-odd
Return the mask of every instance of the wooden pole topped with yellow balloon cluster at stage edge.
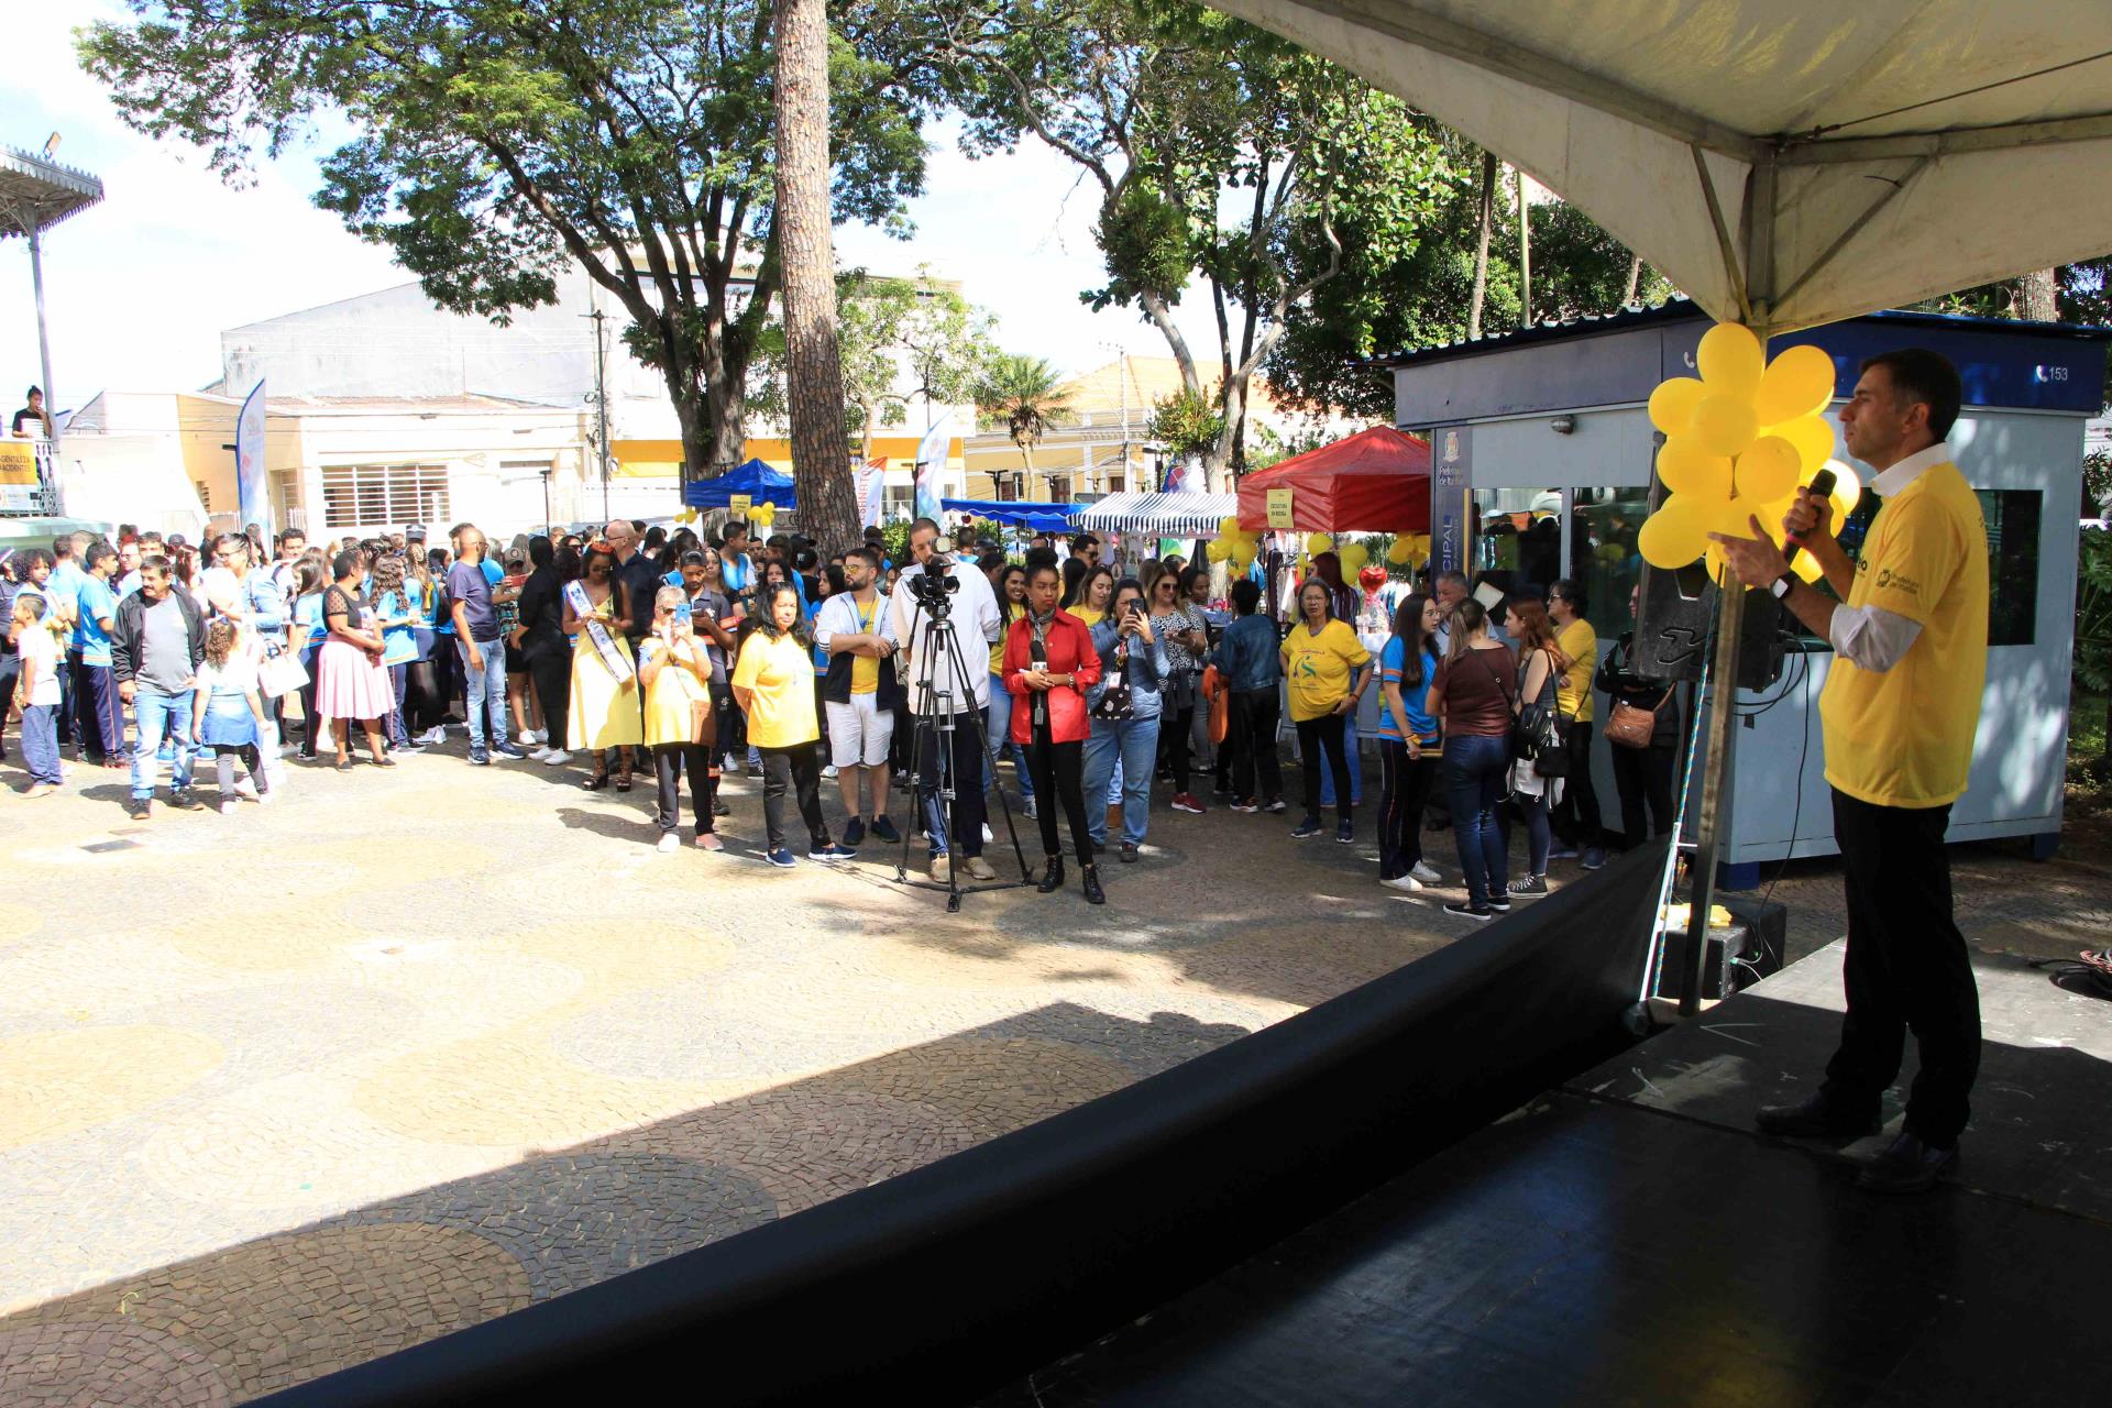
[[[1700, 378], [1675, 376], [1649, 393], [1649, 420], [1664, 433], [1658, 479], [1666, 498], [1637, 534], [1637, 551], [1660, 570], [1704, 562], [1717, 583], [1717, 640], [1709, 671], [1715, 705], [1702, 756], [1702, 804], [1694, 851], [1687, 920], [1687, 969], [1679, 1015], [1700, 1013], [1709, 910], [1715, 903], [1717, 853], [1730, 815], [1736, 745], [1738, 642], [1747, 593], [1730, 574], [1711, 532], [1751, 536], [1753, 519], [1778, 545], [1783, 517], [1833, 454], [1833, 359], [1816, 346], [1787, 348], [1768, 361], [1751, 327], [1717, 323], [1694, 357]], [[1846, 521], [1863, 488], [1854, 471], [1833, 464], [1833, 521]], [[1797, 576], [1814, 581], [1818, 564], [1802, 553]]]

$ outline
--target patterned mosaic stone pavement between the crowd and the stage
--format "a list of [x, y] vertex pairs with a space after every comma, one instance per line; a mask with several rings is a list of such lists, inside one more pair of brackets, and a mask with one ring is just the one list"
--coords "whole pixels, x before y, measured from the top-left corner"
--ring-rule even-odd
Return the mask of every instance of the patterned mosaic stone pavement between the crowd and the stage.
[[[0, 796], [8, 1406], [300, 1383], [995, 1138], [1466, 931], [1449, 891], [1373, 884], [1369, 846], [1223, 811], [1155, 815], [1102, 910], [1073, 874], [946, 916], [893, 849], [765, 868], [746, 783], [716, 857], [657, 855], [642, 794], [534, 764], [296, 770], [294, 804], [148, 825], [122, 794], [74, 768], [63, 798]], [[1985, 865], [1975, 893], [2087, 922], [2053, 872]], [[1818, 916], [1802, 948], [1833, 937], [1829, 884], [1785, 880]]]

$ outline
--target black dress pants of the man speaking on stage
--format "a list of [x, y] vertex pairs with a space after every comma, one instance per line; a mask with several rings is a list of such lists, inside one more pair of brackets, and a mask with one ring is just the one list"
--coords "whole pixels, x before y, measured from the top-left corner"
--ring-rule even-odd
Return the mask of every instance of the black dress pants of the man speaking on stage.
[[1848, 889], [1848, 1015], [1825, 1096], [1846, 1112], [1875, 1112], [1913, 1032], [1922, 1068], [1905, 1129], [1939, 1148], [1966, 1127], [1981, 1043], [1973, 960], [1951, 920], [1949, 819], [1949, 806], [1873, 806], [1833, 794]]

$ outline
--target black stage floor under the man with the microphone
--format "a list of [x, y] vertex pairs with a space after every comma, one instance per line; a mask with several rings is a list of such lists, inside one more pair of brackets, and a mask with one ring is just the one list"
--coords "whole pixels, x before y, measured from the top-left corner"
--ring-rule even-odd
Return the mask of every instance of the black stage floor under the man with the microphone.
[[2112, 1003], [1977, 967], [1937, 1193], [1751, 1131], [1831, 1051], [1835, 946], [988, 1402], [2112, 1402]]

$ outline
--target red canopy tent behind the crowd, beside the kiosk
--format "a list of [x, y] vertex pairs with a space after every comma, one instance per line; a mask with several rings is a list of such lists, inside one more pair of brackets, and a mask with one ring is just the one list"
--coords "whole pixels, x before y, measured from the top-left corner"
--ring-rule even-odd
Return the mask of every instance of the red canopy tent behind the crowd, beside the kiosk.
[[1269, 490], [1290, 490], [1297, 532], [1430, 532], [1430, 441], [1392, 426], [1240, 479], [1240, 528], [1267, 532]]

